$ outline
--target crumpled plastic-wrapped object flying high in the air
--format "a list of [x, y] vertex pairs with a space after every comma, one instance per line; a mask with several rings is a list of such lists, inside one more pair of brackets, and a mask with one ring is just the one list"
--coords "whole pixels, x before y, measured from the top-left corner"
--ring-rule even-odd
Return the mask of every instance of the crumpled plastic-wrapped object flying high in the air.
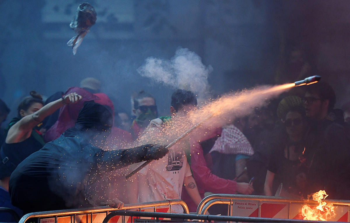
[[96, 22], [95, 9], [87, 2], [84, 2], [78, 6], [77, 12], [69, 24], [70, 28], [74, 30], [75, 36], [67, 43], [68, 46], [72, 46], [73, 55], [77, 53], [77, 48], [82, 43], [85, 35], [89, 32], [89, 29]]

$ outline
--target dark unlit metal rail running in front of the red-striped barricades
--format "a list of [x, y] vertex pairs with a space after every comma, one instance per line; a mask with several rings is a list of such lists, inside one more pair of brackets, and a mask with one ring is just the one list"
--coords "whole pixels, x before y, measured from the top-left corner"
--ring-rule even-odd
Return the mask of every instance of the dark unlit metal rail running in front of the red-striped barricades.
[[[218, 215], [197, 215], [197, 214], [177, 214], [177, 213], [155, 213], [155, 212], [141, 212], [141, 211], [113, 211], [106, 216], [103, 223], [112, 223], [110, 221], [114, 216], [132, 216], [132, 217], [154, 217], [154, 220], [149, 219], [135, 219], [138, 223], [149, 222], [172, 222], [172, 220], [162, 219], [175, 219], [173, 222], [186, 222], [188, 219], [201, 220], [208, 222], [281, 222], [281, 223], [331, 223], [328, 221], [304, 221], [295, 219], [277, 219], [277, 218], [257, 218], [257, 217], [237, 217], [237, 216], [218, 216]], [[181, 221], [182, 220], [182, 221]]]

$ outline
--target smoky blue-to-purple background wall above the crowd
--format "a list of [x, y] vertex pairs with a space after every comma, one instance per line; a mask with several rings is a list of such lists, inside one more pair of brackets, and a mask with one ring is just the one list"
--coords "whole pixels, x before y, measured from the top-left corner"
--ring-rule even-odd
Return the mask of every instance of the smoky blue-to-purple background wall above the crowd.
[[[45, 96], [95, 77], [115, 106], [152, 93], [168, 114], [174, 88], [142, 77], [146, 58], [170, 60], [188, 48], [211, 65], [212, 95], [275, 84], [292, 46], [334, 86], [337, 106], [349, 100], [350, 2], [347, 0], [92, 0], [97, 22], [72, 55], [69, 23], [76, 0], [0, 1], [0, 98], [15, 116], [19, 100]], [[278, 73], [278, 72], [277, 72]]]

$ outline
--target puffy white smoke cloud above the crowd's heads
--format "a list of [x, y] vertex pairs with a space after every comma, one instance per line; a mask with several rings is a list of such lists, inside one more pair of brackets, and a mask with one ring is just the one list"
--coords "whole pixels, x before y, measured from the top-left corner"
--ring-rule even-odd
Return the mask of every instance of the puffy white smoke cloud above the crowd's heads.
[[211, 65], [206, 67], [201, 57], [187, 48], [177, 49], [171, 60], [148, 57], [137, 69], [141, 76], [199, 96], [204, 96], [209, 90], [208, 76], [212, 70]]

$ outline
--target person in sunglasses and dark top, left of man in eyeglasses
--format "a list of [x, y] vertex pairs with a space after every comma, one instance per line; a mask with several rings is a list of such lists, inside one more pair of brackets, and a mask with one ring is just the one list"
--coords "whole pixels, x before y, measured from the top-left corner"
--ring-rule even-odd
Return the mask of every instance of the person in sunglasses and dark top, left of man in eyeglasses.
[[277, 111], [281, 125], [275, 129], [271, 140], [264, 193], [266, 196], [300, 198], [305, 195], [307, 173], [307, 160], [303, 155], [307, 123], [301, 98], [288, 96], [282, 99]]

